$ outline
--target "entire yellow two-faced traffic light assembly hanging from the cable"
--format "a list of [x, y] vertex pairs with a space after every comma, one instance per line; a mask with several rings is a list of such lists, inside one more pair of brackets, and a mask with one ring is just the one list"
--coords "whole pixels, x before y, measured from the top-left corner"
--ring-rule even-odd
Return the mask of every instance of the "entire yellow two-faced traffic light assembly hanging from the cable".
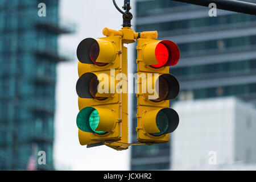
[[[157, 31], [116, 31], [104, 28], [105, 38], [86, 38], [77, 47], [79, 79], [79, 141], [104, 143], [115, 150], [131, 145], [164, 143], [179, 124], [169, 100], [179, 94], [179, 82], [169, 67], [179, 61], [179, 48], [170, 40], [155, 40]], [[128, 143], [127, 48], [138, 40], [137, 140]]]

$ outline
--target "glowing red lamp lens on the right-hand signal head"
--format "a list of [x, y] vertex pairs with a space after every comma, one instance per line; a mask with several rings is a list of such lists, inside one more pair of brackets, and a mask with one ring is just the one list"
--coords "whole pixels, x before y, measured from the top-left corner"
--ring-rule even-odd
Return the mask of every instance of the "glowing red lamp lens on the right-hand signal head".
[[160, 68], [163, 67], [169, 59], [169, 51], [164, 44], [159, 43], [155, 48], [155, 57], [159, 64], [153, 64], [151, 67]]

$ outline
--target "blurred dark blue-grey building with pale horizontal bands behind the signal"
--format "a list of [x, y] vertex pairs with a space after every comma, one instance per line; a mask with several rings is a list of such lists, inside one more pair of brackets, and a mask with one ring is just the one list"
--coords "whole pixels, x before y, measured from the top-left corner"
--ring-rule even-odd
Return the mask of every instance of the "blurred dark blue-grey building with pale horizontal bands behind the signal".
[[[222, 96], [256, 103], [255, 16], [217, 10], [217, 17], [210, 17], [209, 8], [169, 0], [137, 0], [136, 9], [135, 31], [157, 30], [158, 39], [172, 40], [180, 48], [180, 62], [170, 68], [180, 82], [180, 95], [171, 103]], [[170, 169], [171, 142], [133, 146], [131, 169]]]

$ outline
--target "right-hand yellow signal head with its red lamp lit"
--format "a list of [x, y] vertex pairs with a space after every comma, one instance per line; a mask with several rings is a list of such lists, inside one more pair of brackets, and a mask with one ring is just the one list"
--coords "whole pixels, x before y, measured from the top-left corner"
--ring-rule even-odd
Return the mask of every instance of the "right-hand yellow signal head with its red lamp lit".
[[180, 51], [174, 42], [153, 37], [137, 40], [136, 130], [138, 142], [147, 144], [168, 142], [179, 125], [179, 115], [169, 108], [169, 100], [179, 94], [179, 82], [169, 67], [177, 64]]

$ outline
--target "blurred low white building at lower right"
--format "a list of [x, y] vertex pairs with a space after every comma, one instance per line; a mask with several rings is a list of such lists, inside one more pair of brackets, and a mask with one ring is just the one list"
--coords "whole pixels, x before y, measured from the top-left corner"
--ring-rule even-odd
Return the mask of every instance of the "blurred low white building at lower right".
[[173, 170], [256, 170], [254, 105], [221, 97], [179, 101], [174, 109], [182, 122], [172, 135]]

